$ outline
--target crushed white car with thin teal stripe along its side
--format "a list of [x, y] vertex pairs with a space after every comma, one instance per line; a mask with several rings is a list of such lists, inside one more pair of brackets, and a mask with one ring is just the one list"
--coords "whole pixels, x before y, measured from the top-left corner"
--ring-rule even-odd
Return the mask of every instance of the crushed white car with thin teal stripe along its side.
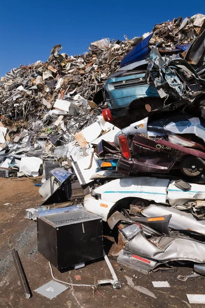
[[188, 183], [191, 189], [186, 191], [176, 182], [169, 178], [139, 176], [111, 180], [92, 189], [84, 198], [84, 206], [91, 213], [103, 216], [105, 221], [120, 208], [129, 208], [131, 204], [143, 208], [151, 203], [195, 211], [203, 217], [205, 186]]

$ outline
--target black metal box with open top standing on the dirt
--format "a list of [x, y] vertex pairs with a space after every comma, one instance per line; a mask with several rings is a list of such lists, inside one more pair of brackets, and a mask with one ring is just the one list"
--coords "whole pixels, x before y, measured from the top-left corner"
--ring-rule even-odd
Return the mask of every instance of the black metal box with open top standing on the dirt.
[[103, 257], [103, 221], [85, 209], [37, 216], [38, 251], [58, 269]]

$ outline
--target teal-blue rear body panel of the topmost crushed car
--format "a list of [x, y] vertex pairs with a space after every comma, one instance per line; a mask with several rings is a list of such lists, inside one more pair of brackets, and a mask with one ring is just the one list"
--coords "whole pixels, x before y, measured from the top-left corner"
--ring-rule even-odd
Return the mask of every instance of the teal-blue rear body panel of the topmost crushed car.
[[111, 78], [105, 84], [110, 109], [127, 108], [136, 99], [159, 97], [155, 87], [145, 81], [145, 72]]

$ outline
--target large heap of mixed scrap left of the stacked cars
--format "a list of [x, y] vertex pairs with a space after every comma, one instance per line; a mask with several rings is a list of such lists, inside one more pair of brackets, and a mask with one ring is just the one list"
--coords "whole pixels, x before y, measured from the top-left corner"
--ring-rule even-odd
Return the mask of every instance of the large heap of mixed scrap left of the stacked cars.
[[[59, 53], [62, 46], [56, 45], [46, 63], [20, 65], [1, 79], [0, 167], [4, 170], [3, 176], [9, 172], [15, 175], [16, 171], [19, 171], [18, 176], [37, 176], [43, 162], [39, 157], [50, 153], [56, 160], [69, 157], [71, 151], [76, 159], [88, 155], [74, 136], [96, 121], [101, 126], [94, 125], [95, 138], [112, 126], [104, 124], [101, 108], [96, 108], [93, 102], [94, 93], [104, 86], [107, 76], [118, 67], [133, 44], [135, 38], [129, 41], [126, 37], [123, 42], [106, 38], [93, 42], [89, 52], [78, 56]], [[60, 152], [56, 149], [64, 145]], [[29, 158], [22, 160], [22, 157]], [[36, 167], [29, 170], [28, 165], [34, 161]]]

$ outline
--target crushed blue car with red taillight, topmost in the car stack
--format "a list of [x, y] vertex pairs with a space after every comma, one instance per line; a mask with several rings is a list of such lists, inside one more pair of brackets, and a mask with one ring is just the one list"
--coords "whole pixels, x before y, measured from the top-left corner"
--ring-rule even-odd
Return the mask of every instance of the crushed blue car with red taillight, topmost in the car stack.
[[[104, 99], [108, 108], [103, 109], [105, 121], [112, 122], [118, 127], [125, 127], [132, 122], [152, 115], [152, 111], [170, 111], [183, 106], [187, 101], [177, 105], [172, 98], [163, 98], [160, 91], [147, 82], [148, 61], [150, 53], [149, 42], [153, 33], [139, 42], [122, 59], [119, 69], [110, 74], [104, 87]], [[185, 50], [187, 46], [178, 46], [174, 52]], [[159, 94], [160, 93], [160, 94]], [[176, 103], [176, 104], [175, 104]]]

